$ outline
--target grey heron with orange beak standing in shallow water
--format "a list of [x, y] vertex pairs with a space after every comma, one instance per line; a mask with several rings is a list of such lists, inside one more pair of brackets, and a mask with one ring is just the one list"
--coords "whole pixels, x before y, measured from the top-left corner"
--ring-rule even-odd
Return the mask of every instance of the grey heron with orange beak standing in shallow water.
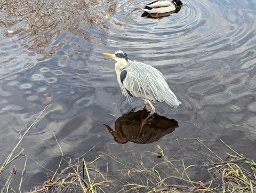
[[[129, 104], [131, 97], [143, 99], [144, 108], [146, 108], [147, 103], [151, 107], [150, 115], [153, 115], [156, 110], [151, 102], [166, 102], [171, 107], [179, 107], [180, 101], [171, 91], [169, 85], [166, 83], [166, 78], [159, 70], [146, 63], [131, 60], [121, 50], [115, 54], [103, 54], [116, 60], [115, 70], [117, 82], [121, 87], [123, 97], [126, 97]], [[146, 123], [146, 120], [142, 123], [142, 126]]]

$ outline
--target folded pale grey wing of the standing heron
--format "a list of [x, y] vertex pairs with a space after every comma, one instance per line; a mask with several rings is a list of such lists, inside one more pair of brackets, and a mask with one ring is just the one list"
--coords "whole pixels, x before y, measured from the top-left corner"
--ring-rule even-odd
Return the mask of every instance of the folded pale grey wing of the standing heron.
[[169, 88], [163, 74], [156, 68], [146, 63], [132, 61], [124, 70], [126, 76], [122, 84], [135, 97], [165, 101], [173, 107], [179, 106], [179, 100]]

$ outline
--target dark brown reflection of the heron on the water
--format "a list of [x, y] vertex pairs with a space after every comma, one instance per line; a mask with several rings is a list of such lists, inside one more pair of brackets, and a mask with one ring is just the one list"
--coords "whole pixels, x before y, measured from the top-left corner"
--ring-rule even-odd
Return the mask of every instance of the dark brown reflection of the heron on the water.
[[131, 109], [116, 120], [115, 130], [104, 124], [116, 142], [153, 143], [162, 136], [172, 133], [178, 127], [176, 120], [156, 113], [151, 115], [147, 123], [141, 127], [142, 121], [148, 117], [150, 111], [145, 108], [136, 112], [134, 110], [135, 108]]

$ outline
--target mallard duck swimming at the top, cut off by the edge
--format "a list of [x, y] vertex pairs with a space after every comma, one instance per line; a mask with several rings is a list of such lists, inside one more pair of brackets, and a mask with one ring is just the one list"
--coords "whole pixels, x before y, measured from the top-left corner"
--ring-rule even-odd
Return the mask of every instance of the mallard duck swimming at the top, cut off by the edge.
[[156, 13], [156, 17], [158, 17], [161, 13], [174, 12], [177, 7], [180, 7], [181, 5], [182, 2], [180, 0], [173, 0], [172, 2], [167, 0], [156, 0], [147, 4], [142, 10], [149, 14]]

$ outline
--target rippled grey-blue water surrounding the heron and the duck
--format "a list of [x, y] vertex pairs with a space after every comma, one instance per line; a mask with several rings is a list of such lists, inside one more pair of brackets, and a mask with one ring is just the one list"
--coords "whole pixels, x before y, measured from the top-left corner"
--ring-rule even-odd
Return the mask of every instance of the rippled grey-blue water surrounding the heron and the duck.
[[[38, 164], [55, 170], [61, 153], [53, 132], [66, 157], [78, 158], [95, 146], [84, 156], [88, 161], [108, 154], [133, 163], [134, 150], [157, 152], [159, 144], [173, 159], [201, 163], [196, 152], [203, 147], [194, 138], [223, 158], [219, 139], [255, 158], [256, 1], [186, 0], [178, 13], [162, 19], [141, 17], [147, 3], [0, 3], [0, 163], [49, 104], [20, 144], [28, 156], [24, 190], [47, 179]], [[118, 144], [103, 125], [114, 129], [131, 108], [114, 60], [102, 55], [117, 50], [162, 71], [181, 101], [177, 109], [155, 104], [157, 114], [179, 123], [158, 141]], [[142, 110], [143, 101], [133, 99], [136, 106]], [[19, 171], [24, 160], [14, 163]], [[110, 173], [118, 175], [121, 167], [111, 163]], [[194, 180], [204, 178], [197, 172]]]

